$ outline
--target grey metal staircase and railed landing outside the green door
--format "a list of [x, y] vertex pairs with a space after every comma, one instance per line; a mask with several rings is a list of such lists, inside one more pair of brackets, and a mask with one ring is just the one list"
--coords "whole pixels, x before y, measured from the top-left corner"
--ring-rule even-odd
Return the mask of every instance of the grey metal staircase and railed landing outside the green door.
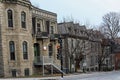
[[45, 69], [49, 71], [51, 74], [54, 73], [65, 74], [61, 70], [61, 65], [58, 65], [52, 56], [36, 57], [34, 64], [43, 66], [43, 76], [45, 75]]

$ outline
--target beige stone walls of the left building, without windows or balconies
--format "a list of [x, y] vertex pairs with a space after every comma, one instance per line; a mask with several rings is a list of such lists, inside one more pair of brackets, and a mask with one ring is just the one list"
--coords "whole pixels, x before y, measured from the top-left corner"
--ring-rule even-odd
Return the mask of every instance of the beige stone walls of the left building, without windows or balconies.
[[[15, 3], [0, 3], [0, 20], [1, 21], [1, 31], [0, 31], [0, 74], [4, 77], [12, 76], [12, 69], [16, 69], [17, 76], [24, 76], [24, 69], [29, 68], [30, 75], [34, 72], [34, 43], [40, 44], [40, 51], [42, 56], [48, 56], [48, 45], [53, 44], [53, 57], [57, 61], [57, 51], [56, 45], [57, 40], [51, 42], [50, 38], [44, 40], [36, 40], [36, 37], [32, 37], [32, 9], [28, 4], [23, 4], [23, 0], [19, 4]], [[22, 5], [21, 5], [22, 4]], [[13, 28], [8, 27], [7, 10], [11, 9], [13, 11]], [[26, 13], [26, 29], [21, 27], [21, 12]], [[47, 14], [47, 13], [46, 13]], [[38, 16], [41, 17], [41, 16]], [[43, 17], [43, 16], [42, 16]], [[54, 26], [54, 32], [57, 33], [57, 16], [55, 15], [55, 22], [51, 21], [50, 26]], [[48, 20], [48, 19], [46, 19]], [[45, 21], [44, 28], [45, 29]], [[55, 24], [54, 24], [55, 23]], [[42, 26], [42, 27], [43, 27]], [[15, 43], [15, 60], [10, 60], [10, 50], [9, 41], [14, 41]], [[28, 44], [28, 60], [23, 59], [23, 48], [22, 43], [26, 41]], [[46, 46], [47, 50], [44, 51], [43, 47]], [[3, 59], [3, 60], [2, 60]], [[59, 62], [59, 61], [58, 61]]]

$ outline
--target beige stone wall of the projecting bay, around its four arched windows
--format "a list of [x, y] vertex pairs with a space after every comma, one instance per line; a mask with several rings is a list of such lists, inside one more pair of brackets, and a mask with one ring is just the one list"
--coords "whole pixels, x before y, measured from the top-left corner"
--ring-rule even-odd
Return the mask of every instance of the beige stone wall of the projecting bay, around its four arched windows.
[[[7, 10], [13, 10], [13, 28], [8, 27], [7, 23]], [[17, 76], [24, 76], [24, 69], [29, 68], [30, 75], [32, 75], [33, 67], [33, 44], [31, 36], [31, 19], [32, 15], [30, 9], [25, 6], [17, 4], [4, 4], [3, 7], [3, 22], [2, 22], [2, 54], [4, 60], [4, 76], [11, 77], [11, 70], [17, 70]], [[21, 27], [21, 12], [26, 13], [26, 29]], [[15, 61], [10, 60], [9, 53], [9, 41], [15, 43]], [[26, 41], [28, 43], [28, 60], [23, 59], [22, 43]]]

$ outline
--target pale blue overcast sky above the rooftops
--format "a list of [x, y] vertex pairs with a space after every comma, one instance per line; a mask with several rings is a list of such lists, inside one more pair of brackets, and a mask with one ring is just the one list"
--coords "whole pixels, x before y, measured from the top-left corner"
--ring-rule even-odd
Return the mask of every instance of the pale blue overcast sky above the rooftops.
[[108, 12], [120, 12], [120, 0], [30, 0], [41, 9], [57, 13], [58, 22], [63, 17], [73, 17], [81, 24], [99, 25]]

